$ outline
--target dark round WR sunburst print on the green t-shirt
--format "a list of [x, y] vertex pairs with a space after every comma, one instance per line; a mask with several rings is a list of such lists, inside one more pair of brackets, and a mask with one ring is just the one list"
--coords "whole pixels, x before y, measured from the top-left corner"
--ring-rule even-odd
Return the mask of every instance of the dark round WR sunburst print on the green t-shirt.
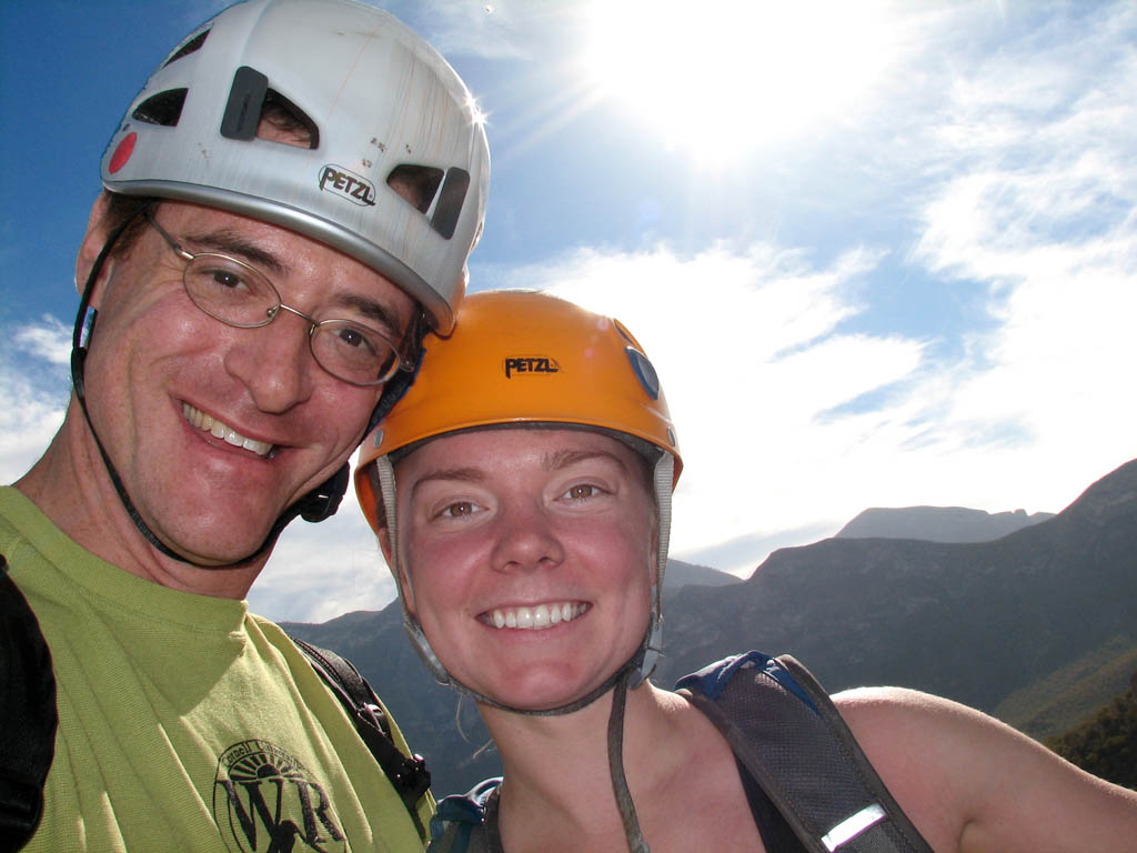
[[233, 853], [349, 850], [323, 786], [269, 740], [243, 740], [221, 756], [214, 820]]

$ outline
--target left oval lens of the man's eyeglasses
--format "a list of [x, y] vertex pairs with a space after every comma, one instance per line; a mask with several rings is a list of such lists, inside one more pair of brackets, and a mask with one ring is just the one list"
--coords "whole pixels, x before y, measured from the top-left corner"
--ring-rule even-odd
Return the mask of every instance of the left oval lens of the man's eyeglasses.
[[264, 325], [280, 305], [268, 279], [224, 255], [196, 255], [185, 267], [185, 292], [206, 314], [232, 325]]

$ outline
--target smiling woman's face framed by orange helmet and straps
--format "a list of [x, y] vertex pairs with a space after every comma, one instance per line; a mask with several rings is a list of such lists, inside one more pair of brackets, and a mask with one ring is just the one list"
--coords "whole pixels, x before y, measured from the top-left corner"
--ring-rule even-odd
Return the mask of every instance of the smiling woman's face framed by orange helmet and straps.
[[634, 654], [656, 523], [633, 450], [582, 430], [482, 430], [424, 445], [396, 475], [407, 605], [454, 678], [541, 710]]

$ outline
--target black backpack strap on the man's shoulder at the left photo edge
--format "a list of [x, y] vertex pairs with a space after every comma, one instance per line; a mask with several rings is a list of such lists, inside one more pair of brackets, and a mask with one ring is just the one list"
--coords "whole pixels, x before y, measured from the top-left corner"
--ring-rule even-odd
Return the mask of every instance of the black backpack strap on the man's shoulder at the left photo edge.
[[40, 622], [0, 554], [0, 853], [27, 844], [56, 753], [56, 677]]

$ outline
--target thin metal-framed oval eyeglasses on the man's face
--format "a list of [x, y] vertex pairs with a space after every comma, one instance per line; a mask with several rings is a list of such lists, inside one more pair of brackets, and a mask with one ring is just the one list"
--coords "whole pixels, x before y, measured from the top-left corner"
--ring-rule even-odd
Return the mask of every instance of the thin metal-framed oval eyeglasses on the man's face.
[[150, 216], [146, 221], [185, 262], [182, 283], [198, 308], [239, 329], [268, 325], [281, 309], [308, 322], [308, 347], [316, 364], [354, 386], [379, 386], [400, 367], [409, 370], [399, 348], [374, 329], [350, 320], [314, 320], [281, 301], [273, 283], [243, 260], [207, 251], [191, 255]]

